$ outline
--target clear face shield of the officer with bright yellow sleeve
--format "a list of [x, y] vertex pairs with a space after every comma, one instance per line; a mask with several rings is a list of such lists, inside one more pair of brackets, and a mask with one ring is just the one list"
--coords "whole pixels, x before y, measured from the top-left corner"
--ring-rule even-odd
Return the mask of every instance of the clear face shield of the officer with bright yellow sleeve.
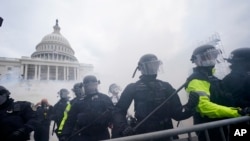
[[221, 55], [221, 51], [218, 49], [209, 49], [202, 54], [195, 55], [195, 64], [197, 66], [209, 67], [215, 66], [218, 56]]

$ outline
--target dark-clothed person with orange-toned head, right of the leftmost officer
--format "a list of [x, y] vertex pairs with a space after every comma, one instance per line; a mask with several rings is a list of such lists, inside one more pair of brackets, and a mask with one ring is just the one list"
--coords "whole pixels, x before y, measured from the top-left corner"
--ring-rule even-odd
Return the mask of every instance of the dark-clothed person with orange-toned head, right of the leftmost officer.
[[53, 106], [48, 103], [47, 99], [42, 99], [36, 105], [36, 114], [38, 117], [39, 125], [34, 132], [35, 141], [49, 141], [49, 131], [51, 123], [51, 115]]

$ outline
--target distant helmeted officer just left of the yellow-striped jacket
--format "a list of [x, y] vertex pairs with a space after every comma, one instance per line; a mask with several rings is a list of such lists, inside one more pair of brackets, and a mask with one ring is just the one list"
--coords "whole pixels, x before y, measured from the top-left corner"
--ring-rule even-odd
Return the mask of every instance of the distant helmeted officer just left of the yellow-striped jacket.
[[[60, 100], [53, 106], [53, 115], [52, 115], [52, 120], [54, 120], [54, 125], [53, 125], [53, 131], [55, 132], [57, 137], [60, 137], [60, 130], [59, 130], [59, 126], [60, 123], [63, 119], [63, 114], [64, 114], [64, 110], [69, 102], [69, 91], [65, 88], [60, 89], [60, 91], [58, 92], [59, 96], [60, 96]], [[55, 125], [57, 126], [57, 129], [55, 129]]]

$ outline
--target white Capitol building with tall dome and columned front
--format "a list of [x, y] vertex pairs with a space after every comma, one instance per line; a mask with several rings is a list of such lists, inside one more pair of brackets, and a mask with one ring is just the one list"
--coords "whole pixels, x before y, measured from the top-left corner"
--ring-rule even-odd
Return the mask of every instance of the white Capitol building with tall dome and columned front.
[[60, 33], [58, 20], [54, 31], [45, 35], [31, 57], [0, 57], [0, 83], [16, 79], [28, 81], [82, 81], [94, 67], [79, 63], [69, 41]]

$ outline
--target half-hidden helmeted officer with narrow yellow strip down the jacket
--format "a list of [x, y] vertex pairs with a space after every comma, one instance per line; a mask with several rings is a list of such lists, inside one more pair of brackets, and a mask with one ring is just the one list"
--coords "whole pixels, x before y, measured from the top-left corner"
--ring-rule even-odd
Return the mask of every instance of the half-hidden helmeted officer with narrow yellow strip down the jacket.
[[64, 110], [63, 119], [61, 120], [59, 128], [58, 128], [59, 140], [61, 140], [60, 134], [62, 133], [62, 130], [64, 128], [64, 124], [65, 124], [66, 120], [68, 119], [68, 112], [70, 111], [71, 106], [85, 95], [84, 91], [82, 89], [82, 83], [75, 83], [73, 88], [72, 88], [72, 91], [74, 92], [76, 97], [73, 98], [70, 102], [68, 102], [68, 104]]

